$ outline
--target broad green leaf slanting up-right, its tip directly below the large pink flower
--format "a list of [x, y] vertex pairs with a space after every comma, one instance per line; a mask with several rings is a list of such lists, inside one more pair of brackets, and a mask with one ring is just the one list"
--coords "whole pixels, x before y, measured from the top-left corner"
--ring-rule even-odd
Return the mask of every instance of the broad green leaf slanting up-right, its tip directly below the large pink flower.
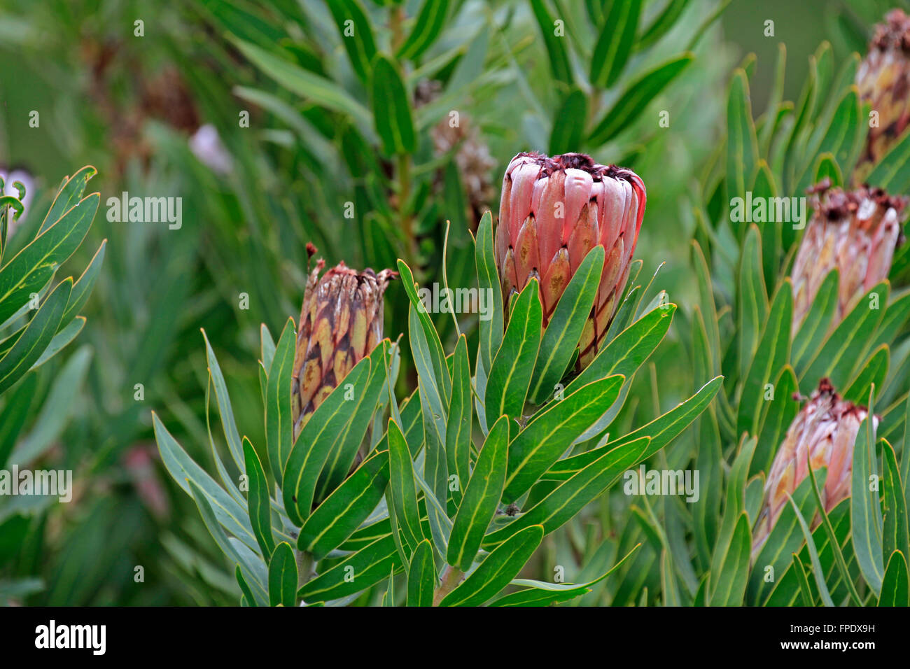
[[553, 400], [519, 432], [509, 445], [508, 477], [503, 500], [512, 502], [559, 460], [573, 443], [619, 397], [622, 376], [611, 376], [582, 386], [564, 400]]

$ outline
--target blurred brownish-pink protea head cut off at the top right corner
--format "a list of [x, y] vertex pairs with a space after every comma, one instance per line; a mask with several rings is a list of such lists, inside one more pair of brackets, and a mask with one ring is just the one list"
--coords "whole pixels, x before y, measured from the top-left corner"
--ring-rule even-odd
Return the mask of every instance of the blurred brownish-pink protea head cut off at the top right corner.
[[856, 70], [856, 86], [878, 115], [854, 173], [860, 183], [910, 123], [910, 16], [902, 10], [891, 11], [875, 27], [869, 53]]

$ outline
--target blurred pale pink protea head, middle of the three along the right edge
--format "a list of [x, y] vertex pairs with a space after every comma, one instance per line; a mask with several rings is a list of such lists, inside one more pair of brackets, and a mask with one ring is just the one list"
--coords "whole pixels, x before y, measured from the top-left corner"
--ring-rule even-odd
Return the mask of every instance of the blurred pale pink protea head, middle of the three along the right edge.
[[810, 189], [814, 215], [792, 272], [794, 333], [828, 272], [839, 273], [836, 324], [867, 290], [887, 278], [895, 248], [903, 241], [900, 218], [906, 198], [890, 197], [881, 188], [844, 191], [829, 185], [825, 179]]

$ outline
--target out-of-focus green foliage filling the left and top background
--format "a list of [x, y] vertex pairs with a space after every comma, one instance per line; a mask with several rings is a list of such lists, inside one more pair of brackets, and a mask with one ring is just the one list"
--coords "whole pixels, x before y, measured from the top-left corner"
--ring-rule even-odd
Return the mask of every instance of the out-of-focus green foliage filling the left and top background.
[[[509, 159], [575, 137], [561, 114], [572, 86], [554, 76], [533, 3], [456, 0], [426, 53], [399, 64], [417, 147], [406, 164], [383, 155], [356, 119], [301, 94], [299, 81], [268, 66], [268, 58], [292, 63], [366, 104], [367, 86], [329, 5], [0, 2], [0, 173], [27, 173], [32, 198], [12, 250], [34, 235], [60, 180], [86, 164], [98, 169], [89, 189], [101, 192], [102, 207], [69, 271], [81, 271], [107, 239], [88, 324], [40, 370], [41, 411], [24, 431], [36, 462], [75, 472], [76, 495], [69, 504], [0, 507], [0, 603], [236, 604], [237, 584], [192, 501], [157, 460], [151, 428], [157, 411], [198, 461], [210, 462], [199, 329], [217, 351], [239, 430], [262, 443], [258, 329], [265, 323], [277, 333], [288, 316], [297, 319], [307, 242], [330, 264], [379, 269], [406, 258], [421, 281], [432, 282], [440, 279], [450, 220], [449, 279], [465, 285], [471, 262], [459, 262], [460, 254], [482, 212], [497, 211]], [[374, 46], [390, 53], [422, 2], [357, 5], [369, 15]], [[591, 12], [610, 3], [542, 5], [565, 17], [572, 53], [590, 56]], [[753, 108], [763, 109], [783, 42], [784, 98], [794, 99], [823, 40], [836, 62], [862, 51], [870, 26], [892, 4], [650, 0], [642, 25], [656, 25], [671, 5], [680, 10], [672, 25], [634, 53], [611, 86], [587, 86], [583, 59], [573, 56], [587, 124], [634, 90], [629, 85], [648, 68], [686, 49], [693, 64], [636, 107], [622, 132], [561, 150], [583, 150], [642, 176], [642, 276], [665, 263], [658, 283], [684, 305], [694, 292], [686, 198], [723, 137], [733, 67], [756, 56]], [[768, 20], [773, 36], [764, 35]], [[451, 110], [460, 115], [454, 131], [444, 124]], [[661, 110], [670, 111], [670, 127], [659, 127]], [[33, 111], [38, 127], [29, 125]], [[123, 191], [182, 198], [182, 227], [109, 222], [106, 199]], [[353, 218], [346, 218], [349, 202]], [[406, 300], [399, 286], [387, 295], [386, 333], [394, 338]], [[688, 365], [672, 332], [652, 364], [667, 368], [663, 379]], [[72, 392], [55, 392], [64, 372]], [[640, 381], [641, 397], [624, 411], [651, 402], [650, 380]], [[662, 388], [660, 402], [672, 406], [686, 390]]]

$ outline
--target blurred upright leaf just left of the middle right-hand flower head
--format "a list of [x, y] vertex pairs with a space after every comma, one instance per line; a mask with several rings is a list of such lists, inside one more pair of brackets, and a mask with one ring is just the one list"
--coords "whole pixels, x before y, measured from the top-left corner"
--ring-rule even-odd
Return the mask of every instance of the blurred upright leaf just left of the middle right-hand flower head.
[[755, 355], [743, 381], [736, 433], [757, 434], [764, 407], [765, 385], [771, 383], [790, 358], [790, 323], [794, 298], [790, 280], [785, 279], [764, 321]]

